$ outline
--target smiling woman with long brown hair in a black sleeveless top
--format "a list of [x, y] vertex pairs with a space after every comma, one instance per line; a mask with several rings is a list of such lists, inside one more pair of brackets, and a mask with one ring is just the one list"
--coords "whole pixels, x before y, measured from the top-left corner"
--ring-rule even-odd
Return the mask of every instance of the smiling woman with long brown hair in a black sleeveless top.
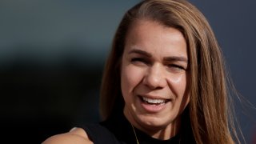
[[44, 143], [239, 142], [222, 53], [184, 0], [145, 0], [124, 15], [102, 79], [105, 121]]

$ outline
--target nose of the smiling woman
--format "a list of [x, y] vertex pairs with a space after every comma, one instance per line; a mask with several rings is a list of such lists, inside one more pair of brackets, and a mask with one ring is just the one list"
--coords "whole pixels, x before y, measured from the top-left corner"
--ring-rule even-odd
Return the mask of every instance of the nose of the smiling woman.
[[166, 74], [164, 67], [161, 64], [154, 64], [146, 71], [143, 78], [143, 83], [150, 89], [161, 89], [166, 86]]

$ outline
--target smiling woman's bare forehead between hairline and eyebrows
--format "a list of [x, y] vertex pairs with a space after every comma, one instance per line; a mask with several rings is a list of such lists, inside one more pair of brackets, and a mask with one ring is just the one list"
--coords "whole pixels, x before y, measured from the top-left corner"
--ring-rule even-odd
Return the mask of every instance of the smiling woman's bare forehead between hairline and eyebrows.
[[125, 51], [132, 48], [143, 49], [153, 54], [178, 54], [186, 56], [186, 40], [183, 34], [159, 22], [139, 20], [131, 26], [127, 36]]

